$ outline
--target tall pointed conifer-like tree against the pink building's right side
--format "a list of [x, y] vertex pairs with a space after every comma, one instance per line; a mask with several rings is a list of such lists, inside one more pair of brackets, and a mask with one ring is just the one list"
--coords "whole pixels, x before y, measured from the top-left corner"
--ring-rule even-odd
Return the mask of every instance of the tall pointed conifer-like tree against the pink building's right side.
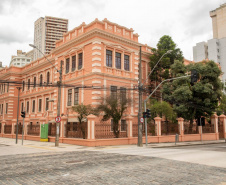
[[172, 50], [171, 53], [166, 54], [156, 66], [155, 70], [150, 75], [151, 79], [151, 90], [154, 90], [156, 85], [162, 80], [170, 77], [170, 66], [174, 63], [175, 60], [183, 62], [182, 51], [176, 47], [176, 44], [172, 38], [168, 35], [164, 35], [160, 38], [157, 48], [152, 49], [152, 55], [150, 57], [150, 67], [154, 68], [159, 59], [164, 55], [168, 50]]

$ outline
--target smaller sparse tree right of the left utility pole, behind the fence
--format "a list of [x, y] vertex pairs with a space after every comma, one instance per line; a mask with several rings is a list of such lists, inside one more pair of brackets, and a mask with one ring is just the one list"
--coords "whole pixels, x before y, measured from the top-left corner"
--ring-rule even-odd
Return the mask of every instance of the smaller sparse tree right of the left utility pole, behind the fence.
[[85, 122], [85, 120], [87, 120], [88, 115], [90, 114], [96, 115], [96, 111], [91, 105], [83, 105], [83, 104], [73, 106], [72, 110], [78, 113], [79, 128], [82, 131], [83, 139], [85, 139], [85, 134], [86, 134], [85, 126], [82, 123]]

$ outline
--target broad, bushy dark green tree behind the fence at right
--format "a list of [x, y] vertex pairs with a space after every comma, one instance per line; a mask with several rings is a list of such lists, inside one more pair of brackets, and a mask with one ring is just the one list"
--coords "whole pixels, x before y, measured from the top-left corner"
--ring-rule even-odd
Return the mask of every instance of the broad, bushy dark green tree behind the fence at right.
[[173, 105], [178, 117], [193, 120], [201, 116], [210, 117], [218, 108], [222, 96], [223, 85], [219, 79], [222, 74], [213, 61], [203, 61], [184, 66], [180, 61], [175, 61], [171, 66], [171, 76], [186, 75], [191, 70], [197, 70], [199, 80], [190, 85], [190, 77], [177, 79], [163, 85], [163, 99]]

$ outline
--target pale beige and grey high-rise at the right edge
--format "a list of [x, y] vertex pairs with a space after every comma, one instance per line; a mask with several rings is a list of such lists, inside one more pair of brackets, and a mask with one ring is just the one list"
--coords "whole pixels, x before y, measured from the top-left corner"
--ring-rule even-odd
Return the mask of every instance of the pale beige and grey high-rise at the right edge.
[[213, 39], [197, 43], [193, 47], [193, 60], [205, 59], [219, 63], [223, 72], [222, 80], [226, 81], [226, 3], [210, 11], [213, 26]]

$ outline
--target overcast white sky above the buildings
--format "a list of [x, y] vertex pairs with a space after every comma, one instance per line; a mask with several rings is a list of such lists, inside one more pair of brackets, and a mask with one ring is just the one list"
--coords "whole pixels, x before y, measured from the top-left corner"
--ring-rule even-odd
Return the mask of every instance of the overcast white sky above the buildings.
[[212, 36], [209, 12], [226, 0], [0, 0], [0, 61], [8, 66], [17, 50], [32, 48], [34, 22], [53, 16], [69, 20], [69, 30], [95, 18], [133, 28], [139, 42], [156, 47], [169, 35], [188, 60], [192, 47]]

